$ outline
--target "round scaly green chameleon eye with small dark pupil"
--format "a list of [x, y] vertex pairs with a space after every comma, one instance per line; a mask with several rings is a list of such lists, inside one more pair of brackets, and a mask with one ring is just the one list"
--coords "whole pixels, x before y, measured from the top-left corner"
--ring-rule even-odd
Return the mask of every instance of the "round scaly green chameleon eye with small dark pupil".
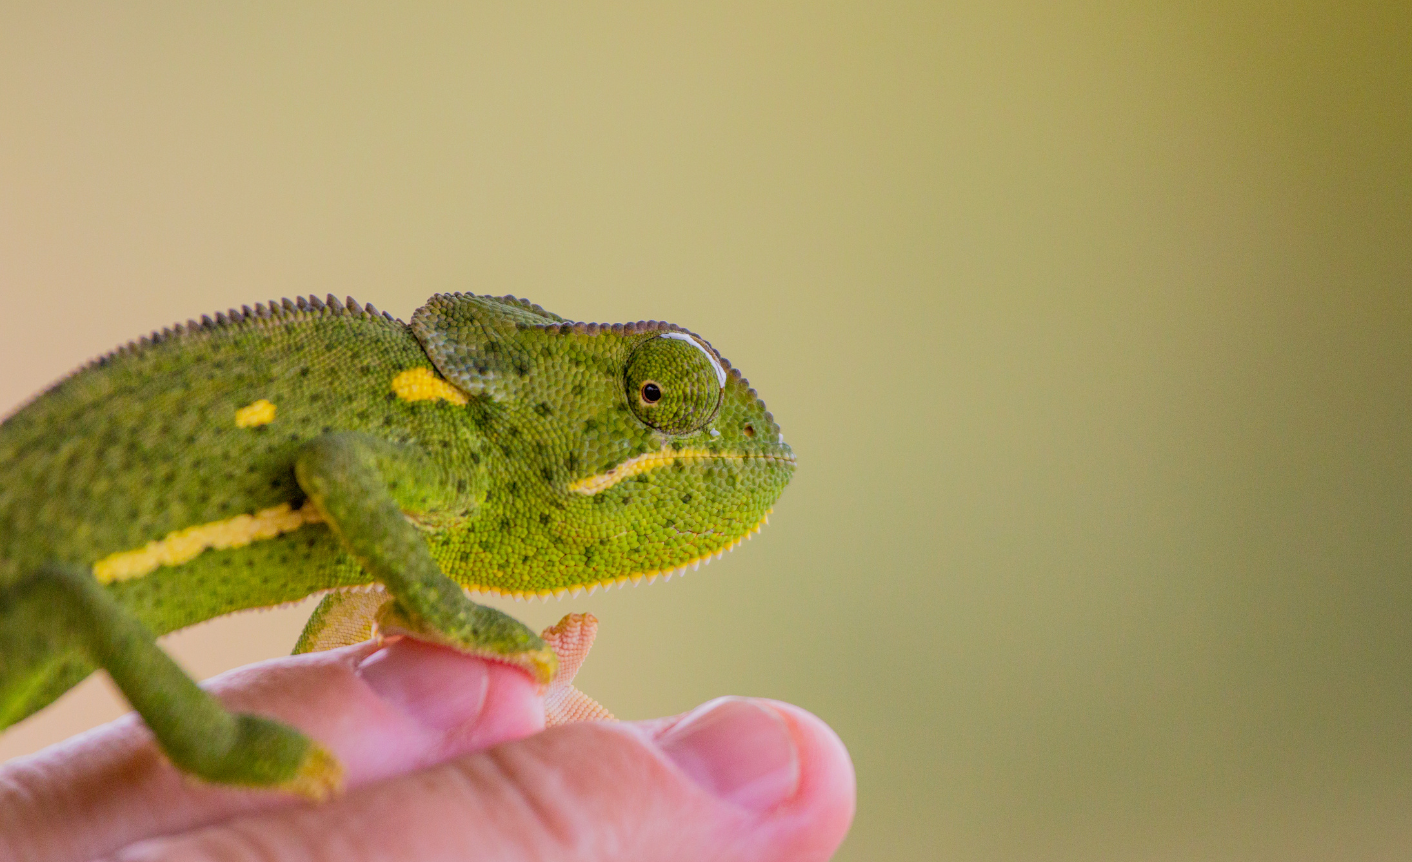
[[665, 332], [633, 349], [624, 383], [637, 418], [666, 434], [690, 434], [720, 410], [726, 372], [696, 336]]

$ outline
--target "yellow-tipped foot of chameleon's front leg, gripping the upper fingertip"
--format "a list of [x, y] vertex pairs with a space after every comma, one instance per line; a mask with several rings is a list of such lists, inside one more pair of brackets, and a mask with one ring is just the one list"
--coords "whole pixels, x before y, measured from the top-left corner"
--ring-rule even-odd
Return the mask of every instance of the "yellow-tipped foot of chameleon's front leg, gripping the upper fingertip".
[[467, 605], [470, 613], [432, 626], [407, 613], [401, 602], [387, 602], [377, 612], [377, 633], [381, 637], [405, 634], [513, 664], [528, 671], [541, 688], [548, 687], [559, 667], [554, 649], [514, 618], [484, 605]]

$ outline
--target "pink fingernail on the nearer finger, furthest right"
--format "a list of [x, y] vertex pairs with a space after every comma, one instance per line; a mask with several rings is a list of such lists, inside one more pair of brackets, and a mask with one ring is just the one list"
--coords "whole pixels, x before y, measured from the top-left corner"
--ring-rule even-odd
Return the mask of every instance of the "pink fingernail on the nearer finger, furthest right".
[[698, 707], [658, 738], [693, 781], [754, 811], [768, 811], [799, 786], [799, 752], [784, 718], [747, 698]]

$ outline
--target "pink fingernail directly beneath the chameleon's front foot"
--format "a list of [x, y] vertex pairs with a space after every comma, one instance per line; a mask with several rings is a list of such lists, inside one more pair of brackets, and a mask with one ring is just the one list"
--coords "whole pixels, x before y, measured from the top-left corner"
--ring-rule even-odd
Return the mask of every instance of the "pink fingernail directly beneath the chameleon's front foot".
[[384, 701], [435, 731], [480, 718], [490, 671], [480, 659], [401, 639], [359, 664], [357, 674]]

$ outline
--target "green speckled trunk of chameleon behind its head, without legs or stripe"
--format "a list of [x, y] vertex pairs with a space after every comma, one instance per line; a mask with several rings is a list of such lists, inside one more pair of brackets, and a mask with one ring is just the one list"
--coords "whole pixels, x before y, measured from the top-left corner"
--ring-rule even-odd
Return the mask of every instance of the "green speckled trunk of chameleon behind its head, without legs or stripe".
[[[393, 376], [414, 366], [431, 363], [404, 324], [328, 309], [186, 326], [93, 363], [0, 427], [0, 585], [47, 560], [92, 565], [175, 530], [298, 506], [294, 454], [329, 431], [472, 458], [483, 442], [465, 415], [393, 394]], [[275, 420], [239, 428], [236, 411], [260, 398]], [[109, 589], [161, 633], [366, 581], [329, 529], [309, 524]]]

